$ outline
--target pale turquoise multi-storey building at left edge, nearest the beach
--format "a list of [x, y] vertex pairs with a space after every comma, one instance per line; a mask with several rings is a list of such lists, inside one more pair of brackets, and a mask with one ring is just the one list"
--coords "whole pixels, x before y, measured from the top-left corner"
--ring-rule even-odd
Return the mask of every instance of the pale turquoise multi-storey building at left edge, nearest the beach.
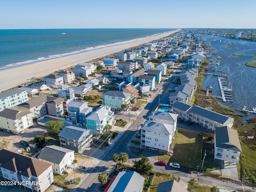
[[28, 101], [28, 93], [26, 90], [14, 88], [6, 92], [0, 93], [0, 111], [5, 108], [11, 108], [18, 104]]

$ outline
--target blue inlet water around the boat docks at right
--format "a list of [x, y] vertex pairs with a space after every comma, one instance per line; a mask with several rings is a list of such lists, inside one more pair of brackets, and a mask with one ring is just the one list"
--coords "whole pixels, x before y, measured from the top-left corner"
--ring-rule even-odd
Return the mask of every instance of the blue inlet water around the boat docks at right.
[[[256, 107], [256, 68], [245, 65], [245, 62], [255, 62], [252, 60], [256, 57], [256, 42], [229, 40], [223, 38], [203, 36], [212, 47], [218, 52], [214, 57], [220, 56], [221, 62], [217, 66], [217, 70], [227, 72], [228, 79], [232, 86], [234, 102], [221, 102], [231, 108], [242, 110], [246, 106], [246, 110], [252, 110]], [[221, 41], [220, 41], [221, 40]], [[231, 45], [229, 45], [229, 42]], [[236, 48], [225, 48], [224, 45], [234, 46]], [[233, 56], [234, 53], [242, 54], [242, 56]], [[218, 78], [216, 76], [206, 76], [203, 86], [212, 86], [212, 95], [221, 96]], [[255, 115], [254, 115], [255, 116]]]

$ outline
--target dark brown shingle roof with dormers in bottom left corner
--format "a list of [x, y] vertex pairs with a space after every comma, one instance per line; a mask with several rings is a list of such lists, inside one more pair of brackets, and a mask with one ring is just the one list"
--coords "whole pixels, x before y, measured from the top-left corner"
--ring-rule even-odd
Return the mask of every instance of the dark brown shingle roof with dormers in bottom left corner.
[[40, 176], [52, 164], [18, 154], [6, 149], [0, 150], [0, 166], [13, 172], [21, 171], [26, 177]]

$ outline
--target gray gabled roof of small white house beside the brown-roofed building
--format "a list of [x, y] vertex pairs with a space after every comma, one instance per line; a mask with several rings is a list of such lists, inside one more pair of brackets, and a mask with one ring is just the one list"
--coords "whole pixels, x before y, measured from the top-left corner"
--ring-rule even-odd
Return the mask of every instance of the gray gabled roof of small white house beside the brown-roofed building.
[[56, 145], [46, 146], [38, 156], [38, 159], [46, 160], [51, 163], [60, 164], [66, 153], [74, 152], [73, 150], [59, 147]]

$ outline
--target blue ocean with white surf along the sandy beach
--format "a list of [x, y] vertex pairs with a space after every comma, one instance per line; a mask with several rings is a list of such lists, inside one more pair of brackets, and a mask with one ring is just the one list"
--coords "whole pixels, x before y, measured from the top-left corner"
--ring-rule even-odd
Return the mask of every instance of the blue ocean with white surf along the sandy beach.
[[132, 42], [172, 30], [176, 29], [0, 30], [0, 70], [104, 46]]

